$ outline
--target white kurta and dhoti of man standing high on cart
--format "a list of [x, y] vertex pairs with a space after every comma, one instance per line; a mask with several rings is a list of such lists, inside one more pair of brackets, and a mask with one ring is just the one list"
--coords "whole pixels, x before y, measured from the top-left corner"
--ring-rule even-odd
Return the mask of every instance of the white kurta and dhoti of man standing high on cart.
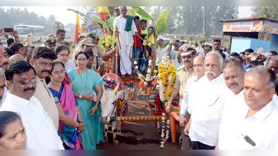
[[119, 31], [120, 44], [121, 44], [120, 55], [122, 55], [120, 61], [120, 70], [122, 75], [126, 73], [131, 74], [131, 61], [129, 59], [129, 53], [131, 53], [130, 44], [133, 44], [132, 35], [135, 35], [135, 33], [138, 31], [133, 20], [131, 24], [131, 31], [124, 31], [124, 27], [126, 26], [126, 18], [122, 17], [122, 15], [114, 19], [114, 28], [116, 28], [116, 26], [117, 26], [117, 31]]

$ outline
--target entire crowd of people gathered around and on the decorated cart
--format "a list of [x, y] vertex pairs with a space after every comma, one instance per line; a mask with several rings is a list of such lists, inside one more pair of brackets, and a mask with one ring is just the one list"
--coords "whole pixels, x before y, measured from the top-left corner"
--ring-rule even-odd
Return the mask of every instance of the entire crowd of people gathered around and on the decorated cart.
[[[253, 49], [229, 54], [219, 39], [212, 46], [175, 40], [161, 48], [154, 27], [126, 11], [115, 10], [114, 49], [104, 51], [92, 35], [81, 41], [74, 61], [62, 29], [38, 47], [19, 43], [16, 31], [7, 47], [0, 45], [0, 149], [96, 150], [104, 141], [99, 73], [116, 51], [122, 78], [144, 73], [154, 55], [156, 68], [161, 55], [170, 56], [177, 75], [165, 111], [170, 114], [179, 96], [183, 150], [278, 149], [276, 51], [258, 65], [247, 59]], [[105, 28], [101, 33], [109, 37]]]

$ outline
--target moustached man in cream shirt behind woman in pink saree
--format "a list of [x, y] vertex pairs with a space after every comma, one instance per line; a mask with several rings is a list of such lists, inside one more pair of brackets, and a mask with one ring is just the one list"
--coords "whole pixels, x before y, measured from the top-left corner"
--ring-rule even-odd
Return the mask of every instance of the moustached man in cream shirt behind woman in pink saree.
[[44, 78], [49, 76], [50, 70], [52, 68], [52, 62], [56, 59], [57, 56], [54, 51], [40, 46], [34, 49], [30, 64], [32, 64], [32, 66], [34, 67], [35, 78], [37, 78], [38, 80], [36, 83], [37, 87], [35, 88], [33, 96], [35, 96], [35, 98], [38, 98], [40, 103], [42, 103], [44, 111], [47, 112], [49, 117], [54, 122], [56, 130], [58, 130], [58, 110], [54, 102], [53, 95], [49, 91], [47, 83], [45, 83], [44, 80]]

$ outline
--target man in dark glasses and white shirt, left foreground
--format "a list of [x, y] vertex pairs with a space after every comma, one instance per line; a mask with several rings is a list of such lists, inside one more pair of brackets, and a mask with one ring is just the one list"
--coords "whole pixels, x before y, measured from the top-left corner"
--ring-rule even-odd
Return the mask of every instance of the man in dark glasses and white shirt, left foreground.
[[[33, 96], [36, 83], [35, 69], [26, 61], [10, 63], [6, 70], [9, 88], [0, 111], [17, 112], [26, 130], [26, 150], [61, 150], [63, 143], [52, 120], [43, 110], [40, 101]], [[10, 139], [17, 139], [10, 138]], [[19, 145], [20, 146], [20, 145]]]

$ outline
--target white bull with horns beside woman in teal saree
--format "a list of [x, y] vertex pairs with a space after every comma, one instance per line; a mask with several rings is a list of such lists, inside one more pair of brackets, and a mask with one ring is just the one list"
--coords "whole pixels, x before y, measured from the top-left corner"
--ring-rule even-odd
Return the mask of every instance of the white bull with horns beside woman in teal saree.
[[[117, 103], [115, 102], [120, 96], [122, 91], [117, 92], [119, 89], [120, 83], [117, 82], [117, 87], [114, 90], [106, 90], [104, 85], [102, 85], [102, 96], [100, 99], [101, 102], [101, 122], [104, 123], [104, 146], [108, 146], [107, 131], [110, 121], [110, 117], [115, 116], [117, 110]], [[119, 147], [119, 141], [117, 141], [116, 130], [120, 130], [121, 121], [112, 122], [112, 132], [113, 132], [113, 144], [115, 147]]]

